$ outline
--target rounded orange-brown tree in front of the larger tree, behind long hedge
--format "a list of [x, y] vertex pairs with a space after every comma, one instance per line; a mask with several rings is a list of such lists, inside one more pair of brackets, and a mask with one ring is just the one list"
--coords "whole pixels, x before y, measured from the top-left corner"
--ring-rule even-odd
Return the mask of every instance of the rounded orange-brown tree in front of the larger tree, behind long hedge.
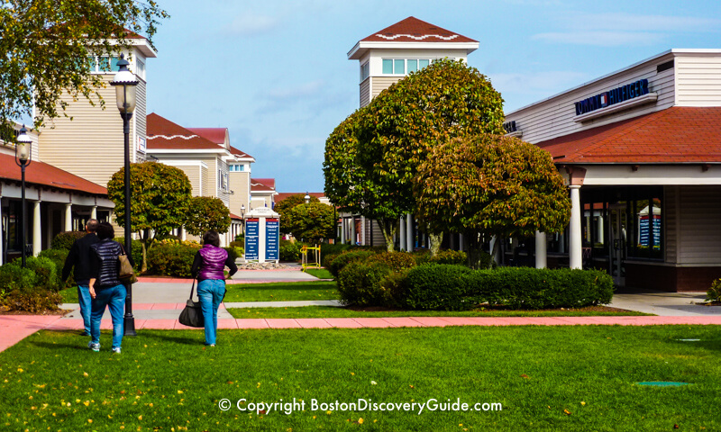
[[557, 232], [570, 218], [570, 199], [551, 154], [491, 134], [434, 147], [418, 167], [415, 196], [418, 218], [432, 231], [465, 234], [473, 267], [479, 263], [480, 236]]

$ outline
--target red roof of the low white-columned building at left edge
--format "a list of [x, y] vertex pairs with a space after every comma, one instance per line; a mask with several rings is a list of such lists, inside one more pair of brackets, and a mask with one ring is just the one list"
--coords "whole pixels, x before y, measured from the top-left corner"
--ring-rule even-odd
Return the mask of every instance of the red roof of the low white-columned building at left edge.
[[[0, 154], [0, 178], [21, 181], [20, 166], [15, 165], [14, 156]], [[25, 168], [25, 181], [68, 191], [107, 195], [105, 187], [37, 160]]]

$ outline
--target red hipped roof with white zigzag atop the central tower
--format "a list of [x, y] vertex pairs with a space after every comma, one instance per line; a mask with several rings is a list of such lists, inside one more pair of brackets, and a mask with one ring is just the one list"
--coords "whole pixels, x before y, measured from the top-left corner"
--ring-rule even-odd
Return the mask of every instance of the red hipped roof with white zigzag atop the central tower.
[[454, 31], [445, 30], [432, 23], [426, 23], [413, 16], [376, 31], [365, 39], [366, 42], [477, 42]]

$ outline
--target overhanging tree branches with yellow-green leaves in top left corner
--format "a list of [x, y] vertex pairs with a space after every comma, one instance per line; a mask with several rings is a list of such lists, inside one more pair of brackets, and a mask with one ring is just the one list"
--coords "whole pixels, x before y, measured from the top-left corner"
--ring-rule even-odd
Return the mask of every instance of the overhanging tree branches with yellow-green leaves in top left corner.
[[0, 0], [0, 136], [33, 110], [36, 128], [59, 117], [63, 92], [103, 103], [86, 58], [129, 47], [128, 31], [152, 43], [166, 17], [152, 0]]

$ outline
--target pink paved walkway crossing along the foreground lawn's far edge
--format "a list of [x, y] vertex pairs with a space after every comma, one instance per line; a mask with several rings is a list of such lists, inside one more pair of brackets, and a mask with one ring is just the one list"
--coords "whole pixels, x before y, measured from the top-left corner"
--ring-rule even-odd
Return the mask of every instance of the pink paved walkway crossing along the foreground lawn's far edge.
[[[156, 305], [158, 306], [158, 305]], [[173, 304], [173, 306], [176, 306]], [[175, 309], [175, 308], [167, 308]], [[397, 327], [448, 326], [657, 326], [665, 324], [721, 325], [721, 316], [691, 317], [390, 317], [390, 318], [305, 318], [305, 319], [240, 319], [218, 320], [218, 329], [364, 329]], [[0, 351], [32, 335], [40, 329], [80, 330], [80, 319], [57, 315], [0, 316]], [[103, 320], [101, 329], [112, 329], [110, 320]], [[178, 320], [135, 320], [135, 329], [191, 329]], [[198, 329], [200, 330], [200, 329]]]

